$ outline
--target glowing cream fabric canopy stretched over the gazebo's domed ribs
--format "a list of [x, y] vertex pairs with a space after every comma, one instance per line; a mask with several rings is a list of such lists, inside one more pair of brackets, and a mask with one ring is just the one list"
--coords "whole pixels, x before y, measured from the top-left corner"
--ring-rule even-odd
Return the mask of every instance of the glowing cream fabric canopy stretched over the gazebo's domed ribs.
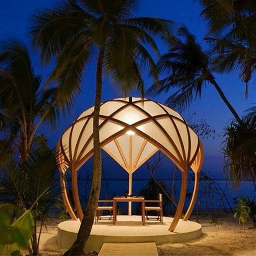
[[[92, 156], [93, 109], [80, 114], [60, 139], [67, 163], [75, 164], [76, 170]], [[186, 171], [199, 150], [197, 134], [180, 114], [153, 100], [120, 98], [104, 102], [99, 124], [102, 149], [129, 173], [158, 150]], [[131, 131], [134, 135], [127, 134]]]

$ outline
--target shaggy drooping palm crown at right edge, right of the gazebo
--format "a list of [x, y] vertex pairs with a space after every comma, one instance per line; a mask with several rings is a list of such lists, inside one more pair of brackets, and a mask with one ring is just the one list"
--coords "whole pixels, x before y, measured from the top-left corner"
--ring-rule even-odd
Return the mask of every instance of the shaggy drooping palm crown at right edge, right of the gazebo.
[[225, 171], [239, 186], [241, 179], [256, 180], [256, 108], [248, 110], [241, 123], [231, 122], [225, 127]]

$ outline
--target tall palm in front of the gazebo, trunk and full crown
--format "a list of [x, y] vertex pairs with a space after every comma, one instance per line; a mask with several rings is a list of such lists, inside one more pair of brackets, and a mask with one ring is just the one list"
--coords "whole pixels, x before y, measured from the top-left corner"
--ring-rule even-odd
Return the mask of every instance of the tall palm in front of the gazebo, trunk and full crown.
[[[65, 1], [55, 9], [39, 11], [33, 17], [32, 42], [49, 63], [57, 58], [50, 79], [68, 92], [72, 100], [80, 90], [82, 74], [96, 55], [96, 97], [93, 112], [93, 178], [77, 240], [66, 254], [83, 254], [90, 235], [100, 191], [101, 156], [99, 111], [102, 78], [108, 76], [126, 94], [133, 88], [144, 90], [142, 68], [153, 79], [158, 73], [148, 47], [158, 52], [152, 36], [170, 36], [172, 23], [158, 18], [134, 16], [138, 0]], [[61, 100], [61, 96], [59, 96]]]

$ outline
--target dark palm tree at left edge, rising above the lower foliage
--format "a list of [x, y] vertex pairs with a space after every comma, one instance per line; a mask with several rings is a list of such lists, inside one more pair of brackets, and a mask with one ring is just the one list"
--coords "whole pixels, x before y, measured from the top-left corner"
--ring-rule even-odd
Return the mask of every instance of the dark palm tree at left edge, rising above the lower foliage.
[[[42, 122], [55, 123], [57, 89], [48, 89], [33, 71], [29, 52], [18, 41], [0, 46], [0, 127], [5, 140], [22, 159], [29, 151]], [[6, 144], [7, 145], [7, 144]]]

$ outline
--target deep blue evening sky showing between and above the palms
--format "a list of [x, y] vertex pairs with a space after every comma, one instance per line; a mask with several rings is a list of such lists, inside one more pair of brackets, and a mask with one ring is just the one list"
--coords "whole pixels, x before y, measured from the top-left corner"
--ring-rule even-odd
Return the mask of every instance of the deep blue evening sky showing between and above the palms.
[[[18, 38], [29, 46], [28, 30], [30, 26], [30, 15], [37, 9], [50, 8], [60, 2], [60, 0], [0, 0], [0, 40]], [[194, 0], [141, 0], [137, 15], [166, 18], [180, 24], [185, 24], [188, 29], [196, 35], [198, 41], [201, 42], [206, 34], [206, 28], [203, 18], [199, 15], [200, 11], [201, 6]], [[161, 53], [164, 53], [166, 50], [165, 46], [160, 41], [158, 44]], [[207, 47], [206, 43], [203, 42], [202, 44], [204, 48]], [[43, 76], [46, 77], [48, 72], [42, 67], [39, 68], [37, 53], [31, 51], [31, 54], [37, 72], [42, 73]], [[84, 75], [83, 92], [77, 98], [71, 113], [66, 116], [65, 120], [60, 120], [59, 126], [55, 131], [46, 129], [45, 127], [42, 130], [49, 138], [51, 146], [56, 144], [62, 132], [72, 123], [80, 112], [93, 105], [95, 95], [94, 64], [95, 62], [92, 60], [92, 65], [89, 66]], [[252, 106], [253, 102], [256, 102], [255, 78], [252, 79], [250, 83], [249, 97], [247, 101], [245, 101], [245, 87], [244, 84], [240, 82], [237, 73], [227, 75], [216, 74], [215, 77], [217, 77], [218, 83], [239, 114], [242, 114], [244, 110]], [[146, 79], [145, 82], [149, 83], [146, 86], [150, 86], [149, 79]], [[188, 113], [196, 112], [196, 116], [193, 118], [194, 122], [205, 119], [208, 124], [215, 128], [217, 133], [221, 134], [221, 132], [223, 132], [223, 126], [232, 118], [231, 113], [211, 85], [208, 85], [207, 88], [204, 89], [201, 100], [196, 100], [188, 110], [183, 112], [183, 116], [187, 117]], [[118, 90], [114, 89], [108, 81], [105, 81], [103, 100], [119, 96]], [[164, 103], [167, 96], [167, 94], [163, 94], [154, 99]], [[206, 168], [213, 167], [220, 163], [222, 158], [220, 142], [220, 138], [203, 140], [206, 156], [204, 166]]]

